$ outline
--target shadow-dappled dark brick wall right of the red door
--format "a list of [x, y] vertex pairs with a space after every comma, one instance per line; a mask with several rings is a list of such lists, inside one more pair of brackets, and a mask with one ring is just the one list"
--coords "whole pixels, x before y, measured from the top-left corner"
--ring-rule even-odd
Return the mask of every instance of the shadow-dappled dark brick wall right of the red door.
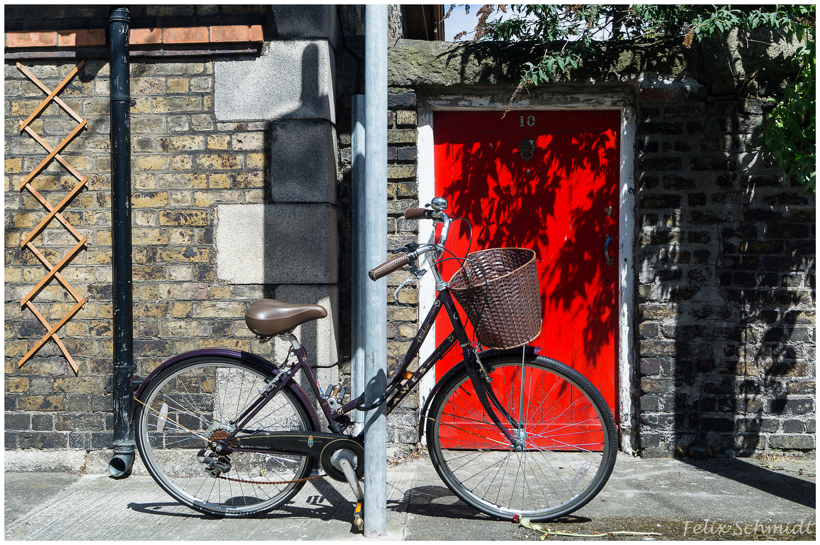
[[754, 148], [763, 102], [645, 80], [638, 126], [647, 456], [815, 447], [814, 198]]

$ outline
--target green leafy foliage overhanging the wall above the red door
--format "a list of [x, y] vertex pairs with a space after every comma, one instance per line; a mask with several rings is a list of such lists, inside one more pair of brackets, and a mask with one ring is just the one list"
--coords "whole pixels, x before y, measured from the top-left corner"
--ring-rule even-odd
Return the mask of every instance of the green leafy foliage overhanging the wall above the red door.
[[[452, 7], [450, 8], [453, 9]], [[490, 20], [503, 11], [504, 20]], [[771, 153], [790, 176], [814, 191], [814, 43], [815, 6], [707, 5], [485, 5], [481, 7], [475, 39], [527, 41], [543, 46], [539, 59], [527, 62], [516, 93], [526, 85], [569, 79], [572, 70], [593, 57], [600, 43], [621, 39], [649, 39], [670, 48], [690, 48], [733, 29], [766, 26], [783, 30], [787, 38], [805, 43], [795, 54], [799, 77], [781, 100], [768, 98], [773, 109], [758, 146]], [[682, 39], [682, 43], [681, 43]]]

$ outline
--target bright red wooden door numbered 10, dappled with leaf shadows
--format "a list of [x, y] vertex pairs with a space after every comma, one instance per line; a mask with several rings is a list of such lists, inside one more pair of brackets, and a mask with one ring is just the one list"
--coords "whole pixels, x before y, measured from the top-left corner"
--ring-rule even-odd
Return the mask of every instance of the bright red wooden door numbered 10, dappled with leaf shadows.
[[[618, 111], [442, 111], [434, 125], [435, 194], [470, 220], [470, 251], [535, 250], [544, 322], [531, 344], [590, 379], [616, 415], [619, 127]], [[468, 243], [454, 223], [449, 250], [464, 256]], [[457, 266], [445, 262], [444, 279]], [[450, 329], [440, 316], [436, 342]], [[460, 360], [451, 350], [436, 378]]]

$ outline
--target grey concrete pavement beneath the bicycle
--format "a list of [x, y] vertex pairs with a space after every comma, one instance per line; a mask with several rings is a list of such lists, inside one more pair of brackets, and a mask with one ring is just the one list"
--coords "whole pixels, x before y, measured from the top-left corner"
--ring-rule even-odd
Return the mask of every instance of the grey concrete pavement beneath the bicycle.
[[[777, 532], [772, 523], [802, 521], [803, 534], [777, 537], [813, 539], [815, 479], [797, 470], [813, 473], [814, 466], [813, 460], [680, 461], [621, 455], [599, 496], [573, 515], [550, 522], [549, 528], [581, 534], [659, 532], [663, 535], [656, 538], [660, 539], [749, 538], [749, 532], [761, 538], [766, 528]], [[353, 493], [347, 484], [330, 479], [307, 483], [278, 512], [237, 520], [214, 519], [180, 506], [144, 475], [122, 480], [66, 473], [7, 472], [4, 476], [7, 540], [366, 539], [351, 522]], [[491, 520], [462, 503], [444, 486], [426, 456], [388, 466], [387, 508], [385, 539], [390, 540], [540, 537], [520, 525]], [[716, 523], [724, 525], [726, 534], [717, 534]], [[702, 526], [693, 534], [696, 524]]]

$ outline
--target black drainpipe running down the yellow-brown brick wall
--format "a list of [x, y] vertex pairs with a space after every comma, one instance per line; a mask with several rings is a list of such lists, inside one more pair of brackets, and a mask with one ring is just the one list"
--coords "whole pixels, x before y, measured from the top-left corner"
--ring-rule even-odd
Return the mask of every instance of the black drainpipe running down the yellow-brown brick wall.
[[131, 293], [131, 89], [128, 57], [130, 16], [127, 7], [108, 19], [111, 46], [111, 211], [114, 274], [114, 457], [108, 473], [131, 475], [134, 426], [130, 420], [134, 377], [134, 310]]

